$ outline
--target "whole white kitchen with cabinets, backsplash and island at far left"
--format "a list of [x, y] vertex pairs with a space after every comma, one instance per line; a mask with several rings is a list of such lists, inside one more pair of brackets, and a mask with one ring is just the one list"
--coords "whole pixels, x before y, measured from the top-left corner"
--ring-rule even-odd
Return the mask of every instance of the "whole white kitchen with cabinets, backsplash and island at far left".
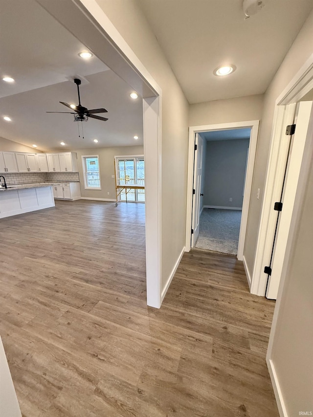
[[0, 151], [0, 219], [80, 198], [76, 153]]

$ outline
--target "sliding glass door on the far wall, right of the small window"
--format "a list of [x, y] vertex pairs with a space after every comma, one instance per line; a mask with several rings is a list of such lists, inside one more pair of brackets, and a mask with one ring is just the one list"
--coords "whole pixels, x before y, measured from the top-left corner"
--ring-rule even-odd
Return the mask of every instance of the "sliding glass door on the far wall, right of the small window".
[[[143, 156], [115, 156], [116, 180], [118, 185], [145, 185], [145, 162]], [[144, 202], [145, 190], [127, 190], [127, 201]], [[119, 201], [126, 201], [125, 190]]]

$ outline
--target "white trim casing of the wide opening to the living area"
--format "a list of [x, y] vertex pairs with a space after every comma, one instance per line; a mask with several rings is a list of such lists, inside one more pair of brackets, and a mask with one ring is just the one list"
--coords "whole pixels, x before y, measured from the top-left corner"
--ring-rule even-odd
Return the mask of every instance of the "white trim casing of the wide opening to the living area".
[[[162, 89], [96, 0], [36, 0], [142, 97], [147, 305], [161, 306]], [[149, 166], [149, 170], [146, 167]]]

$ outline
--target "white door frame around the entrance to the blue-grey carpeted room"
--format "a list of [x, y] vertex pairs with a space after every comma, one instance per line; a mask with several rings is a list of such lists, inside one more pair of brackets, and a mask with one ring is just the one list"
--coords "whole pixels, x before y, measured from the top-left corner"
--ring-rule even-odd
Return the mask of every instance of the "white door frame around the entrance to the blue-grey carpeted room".
[[252, 176], [254, 160], [256, 154], [256, 144], [259, 132], [259, 120], [249, 120], [246, 122], [219, 123], [216, 125], [202, 125], [189, 127], [189, 144], [188, 144], [188, 173], [187, 173], [187, 209], [186, 209], [186, 241], [185, 251], [191, 249], [191, 220], [192, 220], [192, 189], [193, 189], [193, 168], [194, 168], [194, 146], [195, 134], [209, 131], [225, 131], [232, 129], [251, 128], [248, 162], [246, 168], [246, 182], [244, 190], [244, 200], [240, 223], [240, 233], [238, 242], [237, 258], [242, 261], [244, 256], [244, 247], [246, 240], [246, 225], [248, 220], [249, 203], [252, 188]]

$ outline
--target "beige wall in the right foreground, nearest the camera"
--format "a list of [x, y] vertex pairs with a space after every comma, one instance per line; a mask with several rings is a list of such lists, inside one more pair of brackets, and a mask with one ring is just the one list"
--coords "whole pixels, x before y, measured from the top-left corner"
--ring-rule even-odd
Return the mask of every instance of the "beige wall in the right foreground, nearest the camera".
[[[312, 158], [313, 155], [311, 155]], [[269, 359], [287, 416], [313, 413], [313, 163], [296, 224]], [[288, 260], [287, 260], [288, 262]], [[276, 311], [275, 311], [276, 313]], [[272, 337], [272, 335], [271, 335]], [[312, 415], [312, 414], [311, 414]]]

